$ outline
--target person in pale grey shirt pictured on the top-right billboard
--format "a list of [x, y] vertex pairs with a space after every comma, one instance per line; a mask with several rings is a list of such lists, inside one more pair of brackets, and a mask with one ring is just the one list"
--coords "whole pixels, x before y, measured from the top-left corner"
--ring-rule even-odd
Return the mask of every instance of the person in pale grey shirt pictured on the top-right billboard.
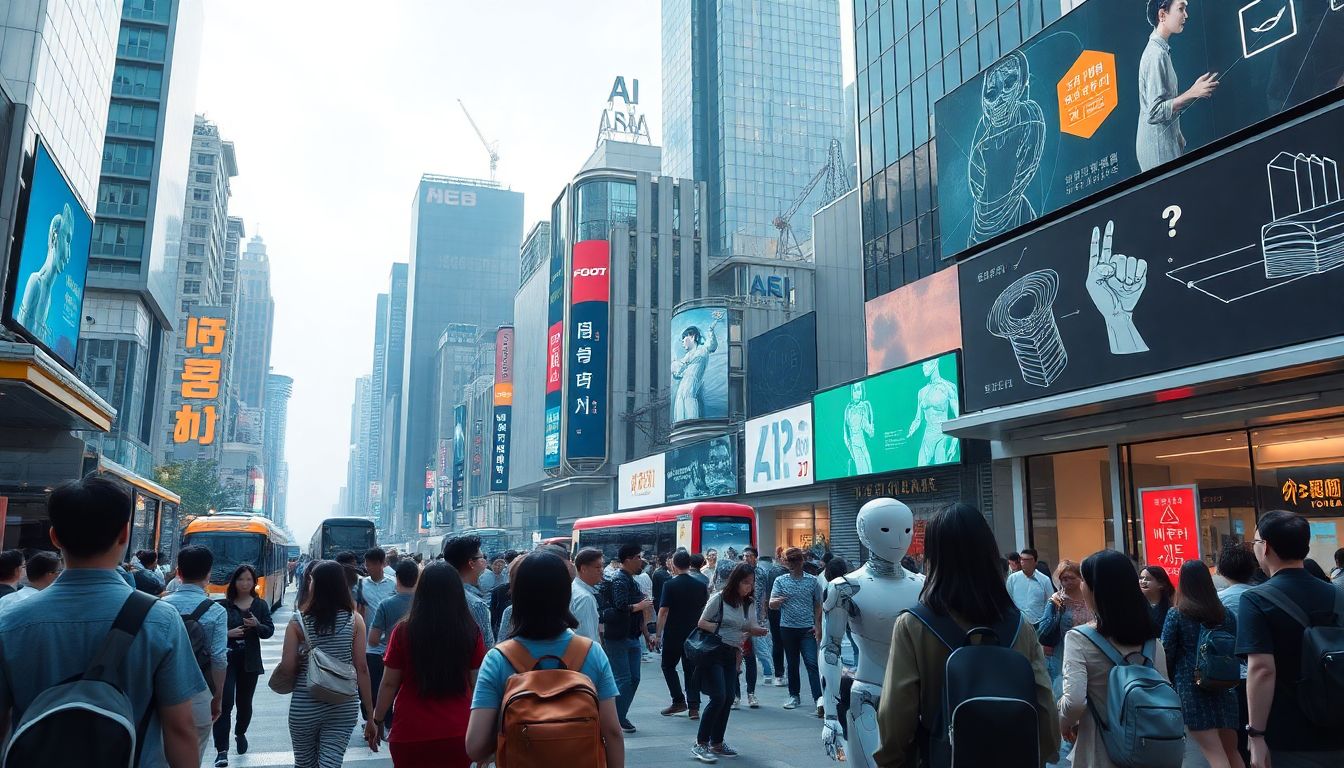
[[1169, 163], [1185, 152], [1180, 116], [1191, 104], [1214, 95], [1218, 73], [1204, 73], [1189, 90], [1180, 93], [1172, 65], [1172, 35], [1185, 31], [1189, 0], [1148, 0], [1148, 23], [1153, 32], [1138, 59], [1138, 130], [1134, 153], [1142, 171]]

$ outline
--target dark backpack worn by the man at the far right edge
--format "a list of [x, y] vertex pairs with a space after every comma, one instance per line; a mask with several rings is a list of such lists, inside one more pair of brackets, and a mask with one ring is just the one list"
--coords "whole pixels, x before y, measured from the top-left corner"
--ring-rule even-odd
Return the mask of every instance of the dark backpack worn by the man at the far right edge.
[[[1297, 703], [1318, 728], [1344, 728], [1344, 589], [1335, 589], [1335, 621], [1313, 623], [1282, 589], [1261, 584], [1253, 592], [1302, 625], [1302, 668], [1294, 681]], [[1285, 671], [1284, 674], [1292, 674]]]

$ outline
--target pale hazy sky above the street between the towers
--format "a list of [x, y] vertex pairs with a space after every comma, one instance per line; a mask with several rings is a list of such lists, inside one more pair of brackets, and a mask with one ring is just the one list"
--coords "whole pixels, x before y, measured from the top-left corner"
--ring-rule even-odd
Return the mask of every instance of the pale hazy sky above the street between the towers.
[[531, 229], [593, 151], [616, 75], [640, 79], [661, 141], [660, 3], [206, 5], [198, 112], [237, 145], [230, 214], [270, 254], [271, 367], [294, 377], [288, 515], [306, 542], [345, 483], [353, 379], [372, 364], [388, 269], [410, 258], [417, 182], [489, 176], [457, 100], [499, 141], [499, 179], [524, 192]]

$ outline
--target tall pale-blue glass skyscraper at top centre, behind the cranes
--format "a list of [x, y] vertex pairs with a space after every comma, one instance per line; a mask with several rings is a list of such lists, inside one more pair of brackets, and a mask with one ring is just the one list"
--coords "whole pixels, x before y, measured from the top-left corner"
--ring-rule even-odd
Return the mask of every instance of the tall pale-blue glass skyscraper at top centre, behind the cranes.
[[706, 182], [710, 256], [773, 256], [843, 141], [841, 87], [837, 0], [663, 0], [663, 172]]

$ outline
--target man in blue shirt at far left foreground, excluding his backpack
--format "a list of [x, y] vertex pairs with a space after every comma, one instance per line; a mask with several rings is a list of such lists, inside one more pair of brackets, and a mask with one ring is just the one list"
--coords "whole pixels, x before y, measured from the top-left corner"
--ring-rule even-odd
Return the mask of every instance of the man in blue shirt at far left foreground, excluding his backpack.
[[[56, 488], [47, 502], [51, 543], [66, 570], [0, 616], [0, 741], [46, 689], [83, 674], [133, 592], [117, 565], [130, 539], [130, 492], [90, 476]], [[118, 686], [137, 713], [155, 713], [141, 765], [200, 765], [191, 698], [206, 690], [181, 619], [155, 604], [130, 643]]]

